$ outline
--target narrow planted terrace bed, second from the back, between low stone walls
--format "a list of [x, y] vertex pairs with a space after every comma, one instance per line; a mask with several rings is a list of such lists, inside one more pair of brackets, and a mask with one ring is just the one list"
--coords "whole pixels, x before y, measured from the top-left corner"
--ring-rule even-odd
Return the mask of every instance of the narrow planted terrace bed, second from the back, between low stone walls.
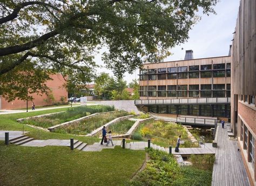
[[91, 133], [93, 130], [105, 125], [106, 123], [122, 117], [129, 115], [128, 112], [125, 111], [116, 111], [111, 113], [102, 113], [91, 118], [80, 120], [72, 125], [59, 127], [54, 130], [55, 133], [63, 133], [63, 134], [80, 134], [84, 135], [87, 133]]

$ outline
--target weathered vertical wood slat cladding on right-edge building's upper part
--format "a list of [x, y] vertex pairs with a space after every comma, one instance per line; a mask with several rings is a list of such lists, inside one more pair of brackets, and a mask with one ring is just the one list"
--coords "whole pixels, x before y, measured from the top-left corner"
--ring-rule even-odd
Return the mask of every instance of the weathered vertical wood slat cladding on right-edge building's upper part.
[[242, 0], [232, 46], [232, 94], [256, 95], [256, 1]]

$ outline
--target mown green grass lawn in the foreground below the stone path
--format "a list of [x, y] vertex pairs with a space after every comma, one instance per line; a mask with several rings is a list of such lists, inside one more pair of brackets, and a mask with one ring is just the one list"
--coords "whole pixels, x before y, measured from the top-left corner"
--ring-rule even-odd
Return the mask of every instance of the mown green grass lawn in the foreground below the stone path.
[[120, 147], [84, 152], [67, 147], [6, 147], [0, 141], [0, 185], [122, 185], [145, 151]]

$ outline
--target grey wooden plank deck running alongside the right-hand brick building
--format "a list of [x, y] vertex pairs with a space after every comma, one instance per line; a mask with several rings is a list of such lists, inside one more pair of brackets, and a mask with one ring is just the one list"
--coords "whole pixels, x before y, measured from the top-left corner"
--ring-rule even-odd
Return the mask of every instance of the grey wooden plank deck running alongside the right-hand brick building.
[[215, 151], [212, 186], [249, 186], [237, 141], [228, 139], [227, 126], [219, 126], [218, 148]]

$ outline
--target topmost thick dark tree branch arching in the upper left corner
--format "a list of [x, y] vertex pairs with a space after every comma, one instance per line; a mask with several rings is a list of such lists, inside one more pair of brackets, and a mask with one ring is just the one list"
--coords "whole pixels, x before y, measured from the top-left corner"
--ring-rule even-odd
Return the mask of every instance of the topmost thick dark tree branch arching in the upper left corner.
[[38, 1], [24, 2], [24, 3], [21, 3], [21, 4], [17, 4], [16, 8], [12, 11], [12, 13], [10, 15], [5, 16], [3, 18], [0, 18], [0, 24], [9, 22], [10, 20], [15, 19], [16, 17], [18, 17], [18, 13], [22, 8], [24, 8], [25, 6], [34, 5], [34, 4], [49, 6], [52, 9], [55, 9], [57, 11], [62, 12], [60, 9], [56, 8], [56, 6], [53, 6], [53, 5], [48, 4], [48, 3], [38, 2]]

